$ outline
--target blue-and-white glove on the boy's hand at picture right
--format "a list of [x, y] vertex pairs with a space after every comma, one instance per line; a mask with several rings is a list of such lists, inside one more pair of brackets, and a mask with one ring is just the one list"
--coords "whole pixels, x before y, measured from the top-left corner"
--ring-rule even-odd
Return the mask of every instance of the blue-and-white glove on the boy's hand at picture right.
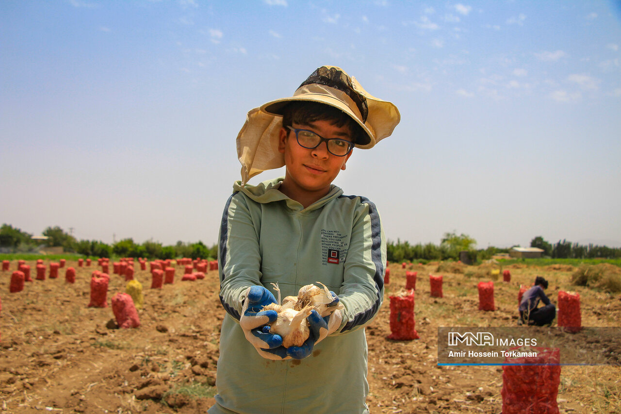
[[332, 297], [335, 298], [329, 303], [327, 308], [322, 312], [323, 317], [319, 315], [319, 312], [313, 310], [311, 315], [306, 319], [309, 321], [309, 338], [304, 341], [302, 346], [290, 346], [287, 348], [287, 354], [293, 359], [304, 359], [311, 355], [315, 344], [323, 341], [326, 336], [335, 332], [343, 321], [343, 313], [341, 309], [338, 309], [339, 299], [337, 295], [332, 293]]

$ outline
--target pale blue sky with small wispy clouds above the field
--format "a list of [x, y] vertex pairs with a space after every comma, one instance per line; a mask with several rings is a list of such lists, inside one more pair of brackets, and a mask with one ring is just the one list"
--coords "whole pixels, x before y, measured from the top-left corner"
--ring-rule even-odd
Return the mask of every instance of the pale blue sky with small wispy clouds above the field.
[[211, 245], [247, 111], [334, 65], [401, 111], [335, 180], [389, 239], [621, 246], [620, 48], [618, 0], [4, 1], [0, 221]]

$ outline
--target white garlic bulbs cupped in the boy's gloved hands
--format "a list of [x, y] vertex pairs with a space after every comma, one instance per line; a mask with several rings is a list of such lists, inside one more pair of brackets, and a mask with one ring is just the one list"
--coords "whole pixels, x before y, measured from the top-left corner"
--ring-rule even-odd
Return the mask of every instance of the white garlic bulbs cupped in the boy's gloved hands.
[[[275, 310], [278, 313], [278, 318], [270, 324], [270, 332], [283, 337], [283, 346], [286, 348], [302, 346], [304, 341], [308, 339], [310, 331], [306, 318], [311, 315], [312, 310], [316, 309], [321, 316], [325, 316], [324, 313], [329, 313], [326, 312], [327, 304], [332, 303], [334, 298], [324, 283], [317, 283], [324, 288], [322, 289], [315, 285], [302, 286], [297, 298], [288, 296], [284, 298], [282, 305], [278, 305], [278, 303], [281, 303], [280, 289], [278, 285], [272, 283], [274, 289], [278, 292], [278, 303], [270, 303], [270, 305], [263, 306], [262, 310]], [[344, 306], [338, 303], [336, 308], [343, 309]]]

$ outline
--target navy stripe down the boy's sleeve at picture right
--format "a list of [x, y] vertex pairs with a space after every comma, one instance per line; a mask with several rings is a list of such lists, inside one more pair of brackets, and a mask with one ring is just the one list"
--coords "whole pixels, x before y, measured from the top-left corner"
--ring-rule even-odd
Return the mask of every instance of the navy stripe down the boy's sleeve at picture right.
[[384, 288], [384, 262], [382, 260], [381, 252], [381, 223], [379, 222], [379, 214], [377, 208], [375, 207], [373, 202], [366, 197], [345, 195], [339, 196], [339, 198], [341, 197], [347, 197], [351, 200], [358, 197], [360, 198], [361, 203], [366, 203], [366, 205], [369, 206], [369, 217], [371, 218], [371, 260], [373, 260], [373, 263], [375, 264], [375, 274], [373, 275], [373, 280], [375, 282], [375, 287], [378, 295], [376, 301], [373, 303], [371, 308], [363, 313], [358, 313], [358, 315], [354, 316], [352, 321], [345, 324], [343, 329], [341, 329], [341, 332], [345, 332], [355, 328], [356, 326], [365, 324], [371, 318], [373, 318], [373, 316], [379, 310], [379, 306], [382, 303], [381, 292]]

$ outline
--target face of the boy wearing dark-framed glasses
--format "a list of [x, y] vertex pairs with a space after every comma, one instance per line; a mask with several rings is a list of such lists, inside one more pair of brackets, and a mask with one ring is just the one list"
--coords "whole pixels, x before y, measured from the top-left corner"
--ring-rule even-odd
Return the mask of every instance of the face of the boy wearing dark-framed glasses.
[[[348, 126], [337, 127], [330, 121], [314, 121], [304, 125], [294, 123], [292, 127], [309, 129], [327, 139], [351, 141]], [[338, 172], [345, 170], [345, 163], [351, 156], [351, 151], [343, 157], [330, 154], [327, 142], [321, 142], [314, 149], [304, 148], [297, 143], [295, 132], [289, 129], [281, 128], [279, 138], [278, 150], [284, 154], [286, 165], [283, 186], [286, 186], [288, 192], [292, 194], [304, 196], [316, 194], [319, 200], [327, 194]]]

